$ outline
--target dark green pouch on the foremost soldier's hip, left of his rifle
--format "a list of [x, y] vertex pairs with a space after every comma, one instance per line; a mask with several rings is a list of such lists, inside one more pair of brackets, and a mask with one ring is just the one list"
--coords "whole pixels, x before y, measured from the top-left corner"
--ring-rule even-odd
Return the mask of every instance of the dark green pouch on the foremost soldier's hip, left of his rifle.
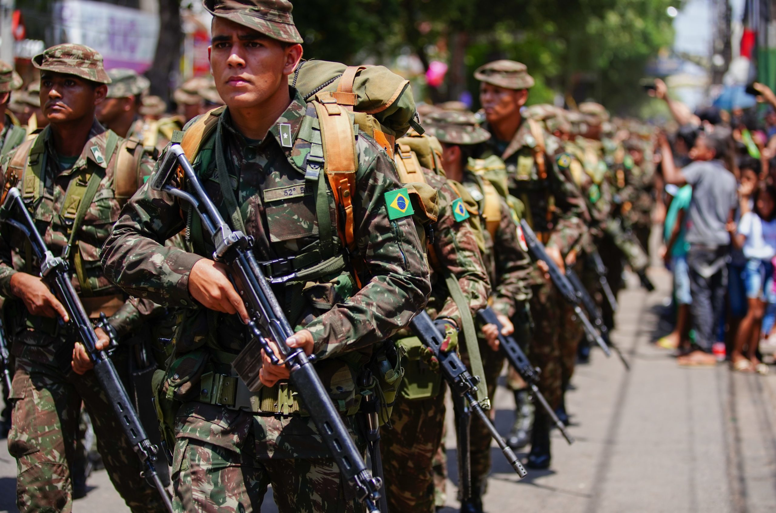
[[151, 378], [154, 409], [159, 421], [165, 454], [175, 447], [175, 414], [185, 401], [199, 396], [199, 378], [205, 371], [210, 354], [203, 349], [175, 359], [167, 369], [158, 369]]

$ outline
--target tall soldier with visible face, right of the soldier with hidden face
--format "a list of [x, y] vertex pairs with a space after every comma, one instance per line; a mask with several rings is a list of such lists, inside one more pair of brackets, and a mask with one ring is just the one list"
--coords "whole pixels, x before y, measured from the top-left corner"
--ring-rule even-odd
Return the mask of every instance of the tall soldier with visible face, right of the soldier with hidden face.
[[[579, 189], [570, 176], [556, 165], [556, 155], [563, 151], [559, 140], [533, 120], [521, 116], [528, 100], [528, 88], [534, 84], [525, 64], [494, 61], [478, 68], [480, 103], [487, 122], [483, 125], [492, 137], [481, 144], [481, 157], [497, 155], [507, 166], [508, 188], [512, 196], [525, 204], [525, 220], [542, 239], [547, 254], [559, 269], [566, 262], [573, 265], [577, 248], [585, 231], [587, 209]], [[532, 362], [542, 369], [539, 389], [553, 408], [559, 407], [563, 395], [561, 343], [559, 332], [574, 322], [564, 318], [566, 305], [549, 279], [535, 268], [532, 284], [531, 314], [535, 332], [530, 353]], [[564, 329], [559, 330], [558, 326]], [[519, 405], [518, 405], [519, 407]], [[549, 467], [549, 418], [536, 410], [531, 452], [526, 466]]]

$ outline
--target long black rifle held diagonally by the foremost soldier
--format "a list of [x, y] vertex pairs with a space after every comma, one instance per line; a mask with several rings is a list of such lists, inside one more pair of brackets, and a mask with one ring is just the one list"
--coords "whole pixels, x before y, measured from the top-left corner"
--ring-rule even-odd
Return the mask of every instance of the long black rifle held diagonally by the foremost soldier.
[[[168, 182], [178, 166], [185, 174], [189, 192], [176, 189]], [[320, 436], [331, 451], [334, 463], [350, 486], [355, 497], [363, 502], [370, 513], [379, 513], [379, 488], [382, 480], [372, 477], [366, 463], [348, 434], [337, 407], [329, 397], [312, 366], [314, 357], [308, 357], [300, 348], [286, 345], [286, 338], [293, 335], [286, 314], [272, 292], [253, 253], [253, 239], [241, 231], [232, 231], [221, 217], [213, 200], [207, 196], [191, 163], [179, 144], [172, 144], [158, 171], [151, 178], [151, 188], [164, 191], [190, 203], [202, 219], [203, 227], [213, 239], [213, 259], [224, 262], [230, 268], [230, 275], [243, 298], [251, 316], [248, 328], [253, 338], [243, 348], [232, 366], [252, 392], [259, 390], [261, 382], [258, 371], [262, 368], [262, 349], [275, 365], [285, 365], [291, 374], [290, 380], [313, 419]], [[278, 345], [282, 360], [272, 351], [267, 338]]]

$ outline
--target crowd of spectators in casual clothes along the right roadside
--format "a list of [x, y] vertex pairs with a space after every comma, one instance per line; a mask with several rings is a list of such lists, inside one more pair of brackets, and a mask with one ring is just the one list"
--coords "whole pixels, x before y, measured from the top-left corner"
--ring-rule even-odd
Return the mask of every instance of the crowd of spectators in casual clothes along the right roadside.
[[655, 84], [678, 125], [657, 141], [675, 320], [657, 343], [681, 366], [728, 359], [736, 371], [767, 374], [764, 356], [776, 349], [776, 95], [753, 87], [767, 108], [691, 113]]

